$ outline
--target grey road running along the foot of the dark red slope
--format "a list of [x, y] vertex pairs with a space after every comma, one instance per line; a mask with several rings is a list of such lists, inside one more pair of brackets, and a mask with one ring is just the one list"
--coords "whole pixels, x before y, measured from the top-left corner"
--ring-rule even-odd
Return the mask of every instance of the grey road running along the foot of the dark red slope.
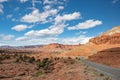
[[110, 66], [96, 63], [96, 62], [87, 61], [85, 59], [82, 59], [82, 61], [85, 64], [97, 69], [98, 71], [101, 71], [102, 73], [110, 76], [114, 80], [120, 80], [120, 69], [119, 68], [113, 68]]

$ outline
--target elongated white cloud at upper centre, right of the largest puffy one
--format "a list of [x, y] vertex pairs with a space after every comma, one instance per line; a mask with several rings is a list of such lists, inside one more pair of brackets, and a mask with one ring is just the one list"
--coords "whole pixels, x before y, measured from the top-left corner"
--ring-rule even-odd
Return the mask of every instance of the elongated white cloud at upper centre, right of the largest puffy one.
[[74, 12], [72, 14], [64, 14], [63, 16], [58, 15], [55, 18], [56, 22], [62, 22], [62, 21], [70, 21], [70, 20], [75, 20], [80, 18], [80, 13], [79, 12]]

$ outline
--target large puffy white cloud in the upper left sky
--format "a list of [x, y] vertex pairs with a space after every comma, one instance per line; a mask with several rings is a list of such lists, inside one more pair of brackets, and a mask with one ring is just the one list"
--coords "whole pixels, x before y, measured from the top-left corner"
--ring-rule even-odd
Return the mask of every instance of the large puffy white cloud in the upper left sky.
[[47, 10], [42, 13], [40, 13], [38, 9], [35, 9], [32, 13], [23, 16], [21, 21], [28, 23], [46, 22], [48, 17], [55, 16], [57, 13], [57, 9]]

